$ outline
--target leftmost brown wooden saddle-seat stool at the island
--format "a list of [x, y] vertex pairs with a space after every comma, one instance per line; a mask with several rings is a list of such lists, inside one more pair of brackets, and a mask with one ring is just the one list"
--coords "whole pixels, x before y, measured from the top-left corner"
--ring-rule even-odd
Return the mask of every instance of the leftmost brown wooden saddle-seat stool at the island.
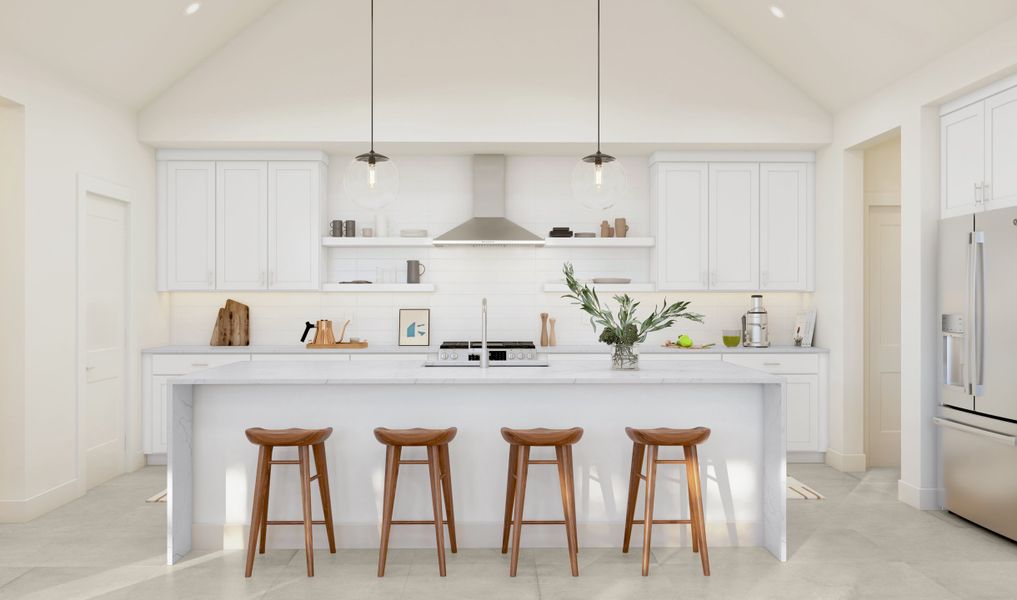
[[[251, 531], [247, 541], [247, 565], [244, 577], [250, 577], [254, 568], [254, 546], [264, 554], [264, 538], [270, 525], [303, 525], [304, 551], [307, 554], [307, 577], [314, 577], [314, 549], [311, 540], [311, 526], [324, 525], [328, 535], [328, 551], [336, 553], [336, 532], [332, 523], [332, 496], [328, 494], [328, 467], [324, 458], [324, 440], [332, 435], [332, 427], [324, 429], [262, 429], [252, 427], [244, 431], [247, 439], [258, 446], [257, 478], [254, 481], [254, 502], [251, 508]], [[273, 451], [279, 446], [295, 446], [297, 460], [273, 460]], [[314, 475], [311, 476], [310, 452], [314, 452]], [[300, 498], [303, 503], [302, 521], [268, 521], [268, 482], [273, 465], [298, 465], [300, 467]], [[323, 521], [311, 518], [311, 482], [317, 480], [321, 495]]]

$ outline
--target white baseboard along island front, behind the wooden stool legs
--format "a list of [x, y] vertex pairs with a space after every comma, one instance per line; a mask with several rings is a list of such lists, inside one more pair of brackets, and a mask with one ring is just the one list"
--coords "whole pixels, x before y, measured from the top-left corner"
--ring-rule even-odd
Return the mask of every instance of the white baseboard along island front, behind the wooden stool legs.
[[[635, 529], [639, 530], [637, 526]], [[565, 547], [561, 527], [527, 527], [524, 538], [530, 548]], [[580, 545], [584, 548], [614, 548], [621, 545], [624, 533], [622, 523], [580, 523]], [[247, 524], [195, 523], [191, 527], [191, 547], [194, 550], [237, 550], [247, 544]], [[642, 533], [634, 534], [642, 539]], [[457, 543], [461, 548], [494, 548], [501, 543], [500, 523], [457, 523]], [[707, 539], [712, 546], [762, 546], [763, 524], [759, 522], [707, 523]], [[429, 526], [397, 526], [392, 534], [393, 548], [433, 548], [434, 529]], [[304, 547], [302, 527], [270, 527], [265, 538], [270, 548], [295, 549]], [[378, 547], [378, 525], [373, 523], [337, 523], [336, 545], [341, 548]], [[690, 546], [692, 538], [687, 527], [655, 527], [653, 545]], [[314, 527], [314, 547], [328, 547], [324, 528]]]

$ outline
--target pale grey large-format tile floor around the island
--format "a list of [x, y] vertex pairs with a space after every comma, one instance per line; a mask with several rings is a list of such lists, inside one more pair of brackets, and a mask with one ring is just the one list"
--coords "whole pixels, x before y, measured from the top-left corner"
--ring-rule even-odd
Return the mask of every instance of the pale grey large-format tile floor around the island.
[[194, 553], [168, 567], [165, 504], [144, 503], [165, 484], [147, 468], [24, 525], [0, 525], [0, 599], [163, 598], [1017, 598], [1017, 544], [944, 513], [895, 500], [897, 474], [847, 475], [794, 465], [792, 475], [827, 496], [788, 504], [790, 559], [757, 548], [713, 548], [704, 578], [687, 548], [659, 548], [650, 577], [640, 554], [589, 548], [582, 576], [569, 577], [562, 550], [524, 550], [519, 577], [497, 550], [448, 554], [439, 579], [431, 550], [393, 550], [387, 577], [376, 553], [315, 556], [304, 577], [302, 552], [270, 551], [245, 580], [240, 552]]

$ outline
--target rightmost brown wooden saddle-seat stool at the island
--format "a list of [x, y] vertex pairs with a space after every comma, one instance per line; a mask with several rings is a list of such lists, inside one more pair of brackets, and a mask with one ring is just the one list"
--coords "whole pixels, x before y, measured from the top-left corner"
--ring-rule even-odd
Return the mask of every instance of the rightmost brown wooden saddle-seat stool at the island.
[[[699, 454], [697, 445], [710, 437], [710, 429], [696, 427], [694, 429], [634, 429], [625, 427], [625, 433], [633, 440], [633, 464], [629, 476], [629, 505], [625, 509], [625, 539], [621, 551], [629, 551], [629, 540], [632, 538], [633, 524], [643, 524], [643, 576], [650, 573], [650, 534], [654, 525], [691, 525], [693, 532], [693, 552], [699, 552], [703, 562], [703, 575], [710, 575], [710, 555], [706, 544], [706, 523], [703, 517], [703, 486], [700, 479]], [[680, 445], [684, 458], [682, 460], [661, 460], [657, 458], [660, 446]], [[646, 455], [646, 475], [643, 475], [643, 457]], [[689, 482], [689, 516], [690, 519], [654, 519], [653, 495], [657, 487], [657, 465], [684, 465], [686, 481]], [[643, 519], [634, 521], [636, 514], [636, 496], [639, 494], [640, 479], [646, 481], [646, 506]]]

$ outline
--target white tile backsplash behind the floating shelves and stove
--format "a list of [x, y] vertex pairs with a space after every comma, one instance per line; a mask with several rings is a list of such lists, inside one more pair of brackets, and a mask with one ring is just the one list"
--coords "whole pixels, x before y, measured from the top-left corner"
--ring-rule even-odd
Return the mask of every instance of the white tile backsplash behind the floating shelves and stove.
[[[393, 157], [400, 170], [402, 192], [384, 213], [390, 235], [401, 228], [427, 228], [432, 235], [459, 225], [471, 216], [473, 188], [470, 157]], [[328, 218], [353, 219], [358, 230], [373, 225], [373, 215], [344, 197], [343, 172], [348, 156], [330, 159]], [[506, 215], [538, 235], [552, 226], [575, 231], [597, 231], [601, 220], [624, 217], [631, 236], [654, 236], [649, 223], [649, 165], [647, 157], [621, 157], [630, 181], [627, 196], [606, 214], [584, 208], [572, 196], [570, 177], [575, 158], [508, 157]], [[680, 232], [674, 232], [680, 235]], [[589, 318], [560, 298], [543, 292], [543, 284], [562, 281], [565, 260], [575, 263], [581, 278], [629, 277], [650, 281], [650, 250], [576, 248], [371, 248], [331, 249], [328, 281], [377, 281], [378, 268], [390, 268], [401, 281], [406, 260], [416, 258], [427, 267], [423, 281], [433, 283], [432, 294], [316, 294], [316, 293], [174, 293], [171, 341], [207, 344], [218, 307], [227, 297], [251, 306], [252, 344], [296, 344], [305, 320], [352, 320], [349, 335], [372, 344], [395, 345], [399, 308], [431, 309], [431, 341], [477, 339], [480, 299], [490, 302], [489, 336], [500, 340], [538, 340], [541, 312], [557, 318], [559, 345], [597, 344]], [[663, 301], [663, 294], [640, 294], [643, 309]], [[707, 315], [703, 324], [681, 321], [655, 334], [648, 345], [690, 334], [697, 342], [719, 344], [721, 329], [737, 328], [750, 305], [749, 294], [671, 293], [670, 300], [693, 301], [693, 309]], [[774, 343], [790, 344], [796, 312], [811, 294], [767, 294]]]

